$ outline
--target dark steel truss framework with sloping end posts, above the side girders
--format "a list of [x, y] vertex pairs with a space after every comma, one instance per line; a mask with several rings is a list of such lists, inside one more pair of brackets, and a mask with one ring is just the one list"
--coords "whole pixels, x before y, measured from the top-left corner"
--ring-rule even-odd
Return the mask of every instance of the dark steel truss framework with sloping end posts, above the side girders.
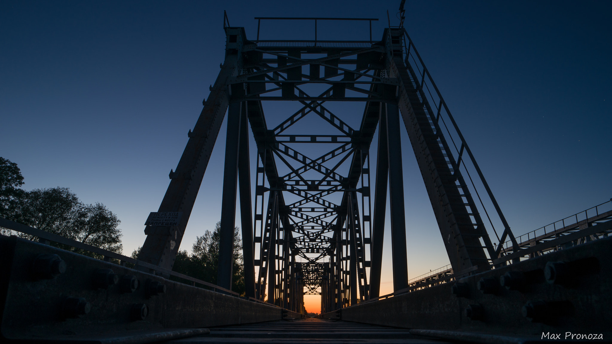
[[[256, 19], [261, 23], [271, 18]], [[275, 19], [314, 20], [316, 27], [318, 20], [345, 18]], [[371, 24], [375, 19], [352, 20]], [[378, 297], [388, 189], [394, 290], [408, 288], [401, 122], [453, 271], [485, 271], [501, 254], [472, 198], [477, 185], [488, 196], [476, 193], [482, 210], [483, 199], [496, 210], [494, 220], [492, 213], [486, 213], [491, 229], [495, 230], [495, 221], [504, 227], [498, 241], [515, 242], [401, 24], [385, 29], [381, 41], [372, 41], [371, 34], [367, 41], [321, 41], [316, 34], [315, 40], [259, 40], [259, 32], [253, 41], [244, 28], [231, 27], [226, 17], [224, 24], [225, 62], [200, 119], [188, 133], [181, 161], [170, 172], [171, 183], [159, 210], [181, 211], [181, 222], [174, 227], [147, 226], [141, 260], [172, 267], [226, 112], [220, 287], [231, 286], [238, 194], [247, 296], [297, 312], [302, 311], [304, 293], [321, 294], [324, 312]], [[264, 103], [271, 101], [298, 106], [272, 128], [264, 115]], [[360, 122], [354, 120], [353, 111], [334, 105], [337, 102], [364, 104]], [[249, 125], [257, 146], [255, 199], [250, 186]], [[370, 148], [376, 132], [372, 173]], [[476, 184], [470, 169], [479, 177]]]

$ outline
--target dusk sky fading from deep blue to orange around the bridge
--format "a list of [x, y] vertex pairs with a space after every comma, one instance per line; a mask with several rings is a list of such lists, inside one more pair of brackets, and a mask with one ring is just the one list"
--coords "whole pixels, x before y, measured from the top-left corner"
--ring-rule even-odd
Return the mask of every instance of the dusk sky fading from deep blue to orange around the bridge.
[[[18, 164], [26, 190], [67, 187], [110, 208], [130, 255], [223, 62], [223, 10], [252, 39], [255, 16], [379, 18], [376, 39], [387, 10], [397, 24], [398, 4], [4, 0], [0, 156]], [[605, 1], [406, 4], [408, 33], [516, 235], [612, 197], [611, 9]], [[319, 39], [367, 39], [367, 27], [347, 23], [319, 24]], [[260, 35], [312, 39], [309, 25], [267, 22]], [[346, 121], [358, 123], [362, 110], [352, 109]], [[266, 113], [272, 123], [283, 111]], [[402, 140], [411, 279], [448, 258], [405, 132]], [[219, 220], [224, 147], [225, 124], [181, 249]], [[388, 251], [381, 295], [392, 292]], [[308, 311], [319, 312], [318, 302], [309, 296]]]

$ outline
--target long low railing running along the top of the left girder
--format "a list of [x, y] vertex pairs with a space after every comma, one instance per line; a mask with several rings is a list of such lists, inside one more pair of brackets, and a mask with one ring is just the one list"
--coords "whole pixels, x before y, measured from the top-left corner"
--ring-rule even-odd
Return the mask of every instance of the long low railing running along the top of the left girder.
[[[179, 279], [183, 279], [183, 280], [188, 280], [189, 282], [191, 282], [191, 285], [193, 285], [194, 287], [198, 287], [197, 284], [212, 288], [212, 291], [217, 291], [226, 295], [231, 295], [231, 296], [236, 296], [236, 297], [240, 297], [238, 293], [236, 293], [235, 291], [231, 291], [228, 290], [226, 288], [223, 287], [219, 287], [218, 285], [206, 282], [204, 280], [200, 280], [200, 279], [196, 279], [193, 278], [191, 276], [187, 276], [181, 273], [177, 273], [176, 271], [172, 271], [170, 269], [165, 269], [162, 268], [161, 266], [157, 266], [157, 265], [153, 265], [150, 263], [146, 263], [143, 262], [141, 260], [132, 258], [132, 257], [127, 257], [126, 255], [122, 255], [122, 254], [118, 254], [116, 252], [112, 252], [112, 251], [108, 251], [105, 249], [101, 249], [100, 247], [96, 247], [96, 246], [91, 246], [89, 244], [85, 244], [85, 243], [81, 243], [80, 241], [76, 241], [76, 240], [72, 240], [69, 238], [65, 238], [64, 236], [61, 235], [57, 235], [54, 233], [50, 233], [50, 232], [46, 232], [44, 230], [40, 230], [40, 229], [36, 229], [34, 227], [30, 227], [28, 225], [24, 225], [24, 224], [20, 224], [18, 222], [15, 221], [10, 221], [7, 219], [2, 219], [0, 218], [0, 227], [1, 228], [5, 228], [5, 229], [9, 229], [15, 232], [19, 232], [19, 233], [24, 233], [27, 235], [32, 235], [34, 237], [39, 238], [39, 241], [45, 244], [50, 244], [51, 241], [53, 241], [54, 243], [59, 243], [59, 244], [64, 244], [70, 247], [75, 247], [76, 249], [81, 249], [83, 251], [88, 251], [88, 252], [92, 252], [94, 254], [100, 255], [101, 257], [103, 257], [103, 260], [105, 262], [110, 262], [112, 263], [112, 260], [118, 260], [119, 261], [119, 265], [121, 266], [126, 266], [127, 263], [133, 264], [134, 267], [136, 266], [142, 266], [143, 268], [147, 268], [147, 269], [151, 269], [152, 271], [157, 271], [158, 273], [162, 273], [162, 274], [167, 274], [170, 276], [174, 276], [177, 277]], [[175, 282], [179, 282], [182, 283], [180, 281], [175, 281]], [[261, 300], [255, 299], [255, 298], [246, 298], [250, 301], [253, 302], [260, 302], [260, 303], [265, 303], [265, 304], [269, 304], [267, 302], [263, 302]], [[272, 304], [269, 304], [270, 306], [275, 306]], [[275, 306], [277, 307], [277, 306]]]

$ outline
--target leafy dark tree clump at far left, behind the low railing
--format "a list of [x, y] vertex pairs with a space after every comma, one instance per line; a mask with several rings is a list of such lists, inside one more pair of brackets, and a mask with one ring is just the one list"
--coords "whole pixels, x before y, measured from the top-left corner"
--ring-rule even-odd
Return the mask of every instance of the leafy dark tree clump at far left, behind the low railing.
[[[0, 158], [0, 216], [21, 224], [64, 236], [81, 243], [121, 253], [121, 230], [119, 219], [102, 203], [84, 204], [68, 188], [47, 188], [24, 191], [23, 176], [17, 164]], [[10, 230], [2, 229], [9, 235]], [[18, 236], [34, 240], [31, 235]], [[61, 247], [80, 254], [97, 257], [91, 252], [74, 249], [58, 243]], [[102, 258], [102, 257], [97, 257]]]

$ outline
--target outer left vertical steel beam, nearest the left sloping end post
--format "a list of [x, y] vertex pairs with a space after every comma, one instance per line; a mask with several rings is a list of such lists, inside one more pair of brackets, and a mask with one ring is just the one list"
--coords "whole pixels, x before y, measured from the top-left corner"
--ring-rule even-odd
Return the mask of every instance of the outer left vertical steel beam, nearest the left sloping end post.
[[236, 222], [236, 184], [238, 181], [238, 148], [242, 103], [232, 103], [228, 109], [228, 128], [225, 139], [225, 168], [219, 230], [219, 262], [217, 285], [231, 290], [234, 255], [234, 223]]

